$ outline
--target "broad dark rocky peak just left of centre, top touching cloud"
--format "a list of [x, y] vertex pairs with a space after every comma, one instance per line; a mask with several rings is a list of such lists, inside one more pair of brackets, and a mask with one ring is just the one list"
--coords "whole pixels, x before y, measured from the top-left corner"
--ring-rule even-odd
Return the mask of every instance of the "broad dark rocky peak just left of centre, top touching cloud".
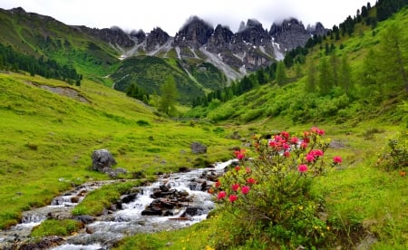
[[211, 24], [198, 16], [192, 16], [174, 37], [174, 44], [181, 47], [199, 48], [209, 41], [209, 37], [213, 32], [214, 28]]

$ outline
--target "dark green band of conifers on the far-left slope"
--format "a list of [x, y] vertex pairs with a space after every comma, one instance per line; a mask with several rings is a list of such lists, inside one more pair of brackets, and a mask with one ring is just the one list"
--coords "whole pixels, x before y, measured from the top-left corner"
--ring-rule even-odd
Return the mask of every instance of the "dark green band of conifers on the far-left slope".
[[83, 75], [76, 72], [70, 65], [61, 65], [53, 59], [45, 59], [44, 56], [35, 58], [33, 55], [17, 53], [11, 45], [5, 46], [0, 43], [0, 68], [12, 72], [29, 72], [30, 75], [41, 75], [45, 78], [53, 78], [81, 85]]

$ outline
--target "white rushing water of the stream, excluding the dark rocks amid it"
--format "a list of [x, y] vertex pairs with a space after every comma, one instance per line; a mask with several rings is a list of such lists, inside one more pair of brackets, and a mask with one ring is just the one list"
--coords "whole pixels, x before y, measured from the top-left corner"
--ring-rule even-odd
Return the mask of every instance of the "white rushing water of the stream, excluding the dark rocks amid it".
[[[75, 236], [66, 237], [63, 245], [51, 249], [109, 249], [113, 243], [124, 236], [132, 236], [142, 232], [159, 232], [178, 229], [198, 223], [207, 217], [209, 211], [214, 208], [214, 203], [208, 192], [199, 190], [201, 188], [197, 187], [197, 179], [208, 172], [215, 175], [222, 174], [224, 168], [231, 164], [232, 161], [233, 160], [229, 160], [215, 164], [215, 168], [199, 168], [190, 170], [189, 172], [164, 175], [158, 181], [152, 183], [151, 186], [140, 187], [141, 192], [134, 201], [126, 204], [123, 203], [121, 209], [112, 214], [97, 217], [94, 222], [86, 225], [86, 229], [83, 229]], [[208, 185], [211, 185], [209, 180], [206, 181]], [[189, 204], [179, 209], [173, 209], [171, 216], [142, 216], [141, 211], [148, 207], [153, 201], [151, 194], [155, 189], [160, 188], [163, 183], [171, 189], [188, 192]], [[50, 217], [50, 215], [58, 215], [59, 217], [71, 216], [71, 211], [77, 204], [75, 202], [80, 202], [85, 193], [97, 187], [101, 187], [101, 185], [102, 182], [92, 183], [92, 185], [88, 186], [83, 185], [83, 187], [76, 189], [73, 193], [54, 198], [50, 206], [25, 212], [21, 224], [0, 232], [0, 249], [11, 245], [15, 240], [24, 241], [28, 239], [32, 228], [41, 224], [41, 222], [47, 217]], [[78, 197], [80, 197], [79, 200]], [[73, 202], [73, 200], [75, 202]], [[197, 213], [194, 216], [183, 216], [182, 219], [180, 219], [182, 215], [185, 215], [188, 207], [195, 207]]]

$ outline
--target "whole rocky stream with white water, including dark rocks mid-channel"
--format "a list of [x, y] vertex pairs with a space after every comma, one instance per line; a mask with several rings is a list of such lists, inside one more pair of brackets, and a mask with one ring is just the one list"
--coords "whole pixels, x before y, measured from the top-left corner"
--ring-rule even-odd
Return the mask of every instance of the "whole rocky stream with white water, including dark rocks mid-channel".
[[[139, 192], [126, 202], [123, 200], [120, 209], [105, 213], [103, 216], [92, 217], [92, 221], [85, 223], [85, 227], [76, 235], [54, 237], [55, 243], [50, 244], [53, 246], [35, 249], [110, 249], [125, 236], [170, 231], [198, 223], [206, 219], [209, 211], [215, 207], [206, 187], [212, 186], [213, 181], [222, 175], [224, 169], [233, 161], [235, 159], [214, 164], [213, 168], [198, 168], [188, 172], [162, 175], [150, 186], [138, 187]], [[113, 181], [83, 184], [63, 196], [53, 198], [49, 206], [25, 211], [20, 224], [0, 232], [0, 249], [18, 249], [22, 243], [29, 242], [33, 227], [40, 225], [47, 218], [73, 217], [71, 213], [73, 207], [79, 204], [87, 193], [110, 182]], [[163, 194], [170, 194], [171, 197]], [[180, 201], [177, 202], [177, 206], [169, 207], [175, 203], [170, 202], [174, 196], [178, 196]], [[165, 211], [156, 209], [158, 200], [170, 209]], [[83, 219], [87, 218], [85, 216]]]

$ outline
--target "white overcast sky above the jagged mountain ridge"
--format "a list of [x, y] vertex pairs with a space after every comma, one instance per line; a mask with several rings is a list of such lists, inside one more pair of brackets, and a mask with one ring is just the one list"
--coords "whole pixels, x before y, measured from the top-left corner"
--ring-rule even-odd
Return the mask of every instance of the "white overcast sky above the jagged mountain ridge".
[[352, 17], [367, 0], [1, 0], [0, 8], [23, 7], [26, 12], [50, 15], [64, 24], [91, 28], [119, 26], [124, 31], [155, 27], [174, 36], [192, 15], [238, 31], [241, 21], [257, 19], [265, 29], [284, 18], [296, 17], [307, 24], [321, 22], [332, 28]]

